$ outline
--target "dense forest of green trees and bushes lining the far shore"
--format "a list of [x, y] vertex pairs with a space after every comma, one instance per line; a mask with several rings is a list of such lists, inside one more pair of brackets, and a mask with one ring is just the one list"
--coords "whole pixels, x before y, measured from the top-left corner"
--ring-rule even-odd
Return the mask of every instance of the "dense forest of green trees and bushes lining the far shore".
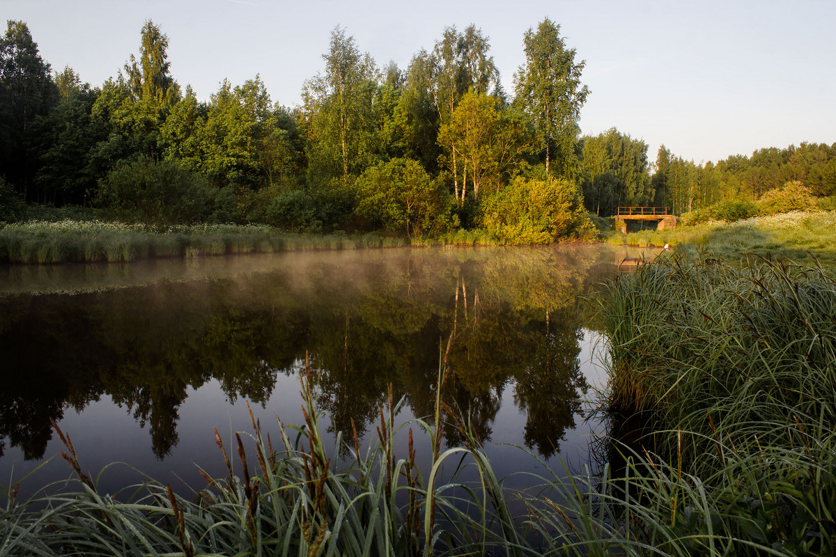
[[93, 205], [166, 225], [267, 223], [287, 230], [431, 235], [482, 228], [517, 241], [582, 236], [585, 213], [619, 205], [677, 214], [758, 200], [787, 182], [836, 194], [836, 144], [760, 149], [696, 165], [613, 128], [580, 136], [590, 94], [548, 18], [523, 37], [502, 89], [490, 44], [448, 27], [407, 68], [381, 67], [334, 28], [303, 104], [274, 104], [261, 78], [224, 80], [208, 101], [171, 75], [150, 20], [115, 78], [53, 71], [26, 23], [0, 38], [0, 220], [23, 202]]

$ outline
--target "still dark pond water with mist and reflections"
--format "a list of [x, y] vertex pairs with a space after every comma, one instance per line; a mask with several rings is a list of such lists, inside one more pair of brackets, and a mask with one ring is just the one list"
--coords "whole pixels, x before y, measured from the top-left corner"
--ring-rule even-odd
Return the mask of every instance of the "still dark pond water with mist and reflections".
[[[103, 491], [140, 481], [130, 467], [200, 489], [197, 466], [226, 474], [212, 426], [227, 442], [251, 429], [245, 401], [265, 431], [277, 418], [303, 423], [306, 361], [326, 437], [354, 421], [368, 442], [390, 385], [404, 400], [398, 423], [433, 413], [451, 335], [442, 398], [486, 442], [497, 474], [538, 468], [503, 443], [578, 467], [605, 381], [579, 296], [623, 258], [556, 246], [2, 267], [0, 486], [29, 474], [26, 496], [70, 476], [52, 418], [84, 468], [104, 468]], [[460, 443], [456, 427], [445, 433]], [[428, 462], [429, 443], [418, 453]], [[107, 467], [116, 461], [129, 466]]]

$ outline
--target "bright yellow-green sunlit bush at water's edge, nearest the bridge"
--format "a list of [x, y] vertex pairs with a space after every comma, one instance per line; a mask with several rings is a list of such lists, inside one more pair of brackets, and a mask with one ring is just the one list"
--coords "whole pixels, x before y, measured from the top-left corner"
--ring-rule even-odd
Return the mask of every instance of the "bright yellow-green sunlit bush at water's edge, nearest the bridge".
[[482, 221], [489, 233], [512, 244], [594, 235], [579, 188], [567, 180], [518, 178], [485, 201]]

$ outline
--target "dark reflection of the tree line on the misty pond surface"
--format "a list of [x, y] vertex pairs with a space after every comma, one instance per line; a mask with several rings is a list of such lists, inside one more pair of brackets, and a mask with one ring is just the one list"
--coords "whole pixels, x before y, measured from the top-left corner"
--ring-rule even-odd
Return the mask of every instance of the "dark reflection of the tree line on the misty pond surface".
[[[525, 442], [546, 456], [557, 450], [585, 384], [573, 311], [593, 252], [390, 251], [372, 259], [349, 269], [290, 266], [236, 281], [0, 300], [9, 387], [0, 394], [0, 441], [40, 458], [49, 418], [107, 393], [149, 425], [164, 458], [178, 441], [188, 387], [215, 378], [231, 402], [263, 404], [277, 373], [293, 372], [306, 352], [320, 408], [335, 429], [348, 432], [354, 420], [362, 434], [389, 384], [415, 415], [433, 413], [440, 351], [455, 331], [448, 407], [487, 440], [502, 391], [516, 382], [517, 404], [528, 411]], [[459, 443], [455, 426], [445, 433]]]

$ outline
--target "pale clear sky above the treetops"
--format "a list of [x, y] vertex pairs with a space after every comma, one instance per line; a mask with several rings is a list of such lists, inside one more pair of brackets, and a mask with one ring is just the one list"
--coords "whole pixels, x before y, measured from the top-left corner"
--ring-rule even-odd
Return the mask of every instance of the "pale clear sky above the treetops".
[[406, 68], [447, 26], [489, 38], [507, 93], [523, 34], [560, 25], [591, 93], [583, 134], [617, 128], [697, 164], [803, 141], [836, 143], [836, 2], [772, 0], [0, 0], [54, 70], [101, 85], [139, 53], [145, 20], [169, 38], [171, 73], [199, 99], [260, 74], [273, 103], [301, 103], [335, 26], [379, 66]]

